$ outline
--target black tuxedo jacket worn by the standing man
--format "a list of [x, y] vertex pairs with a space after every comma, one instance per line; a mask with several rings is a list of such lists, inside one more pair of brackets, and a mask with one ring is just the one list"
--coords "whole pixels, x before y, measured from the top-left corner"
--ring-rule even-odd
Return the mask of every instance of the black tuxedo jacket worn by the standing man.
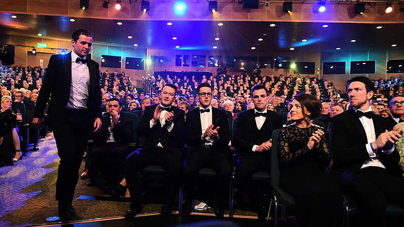
[[[90, 74], [87, 108], [91, 119], [101, 118], [101, 91], [99, 83], [99, 64], [89, 59]], [[49, 101], [49, 124], [57, 127], [65, 118], [65, 110], [70, 99], [72, 83], [72, 54], [54, 54], [49, 59], [48, 68], [35, 106], [34, 117], [43, 118]], [[49, 100], [50, 98], [50, 100]]]

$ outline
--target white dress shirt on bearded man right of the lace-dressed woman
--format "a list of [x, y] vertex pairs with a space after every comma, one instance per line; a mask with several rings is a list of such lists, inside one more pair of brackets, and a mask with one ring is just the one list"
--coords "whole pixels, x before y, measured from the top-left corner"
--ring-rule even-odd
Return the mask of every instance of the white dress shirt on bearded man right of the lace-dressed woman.
[[[361, 111], [359, 109], [356, 109], [355, 107], [354, 107], [354, 110]], [[371, 111], [372, 111], [372, 109], [371, 109], [371, 107], [369, 107], [369, 109], [367, 109], [367, 111], [364, 111], [364, 112], [371, 112]], [[362, 123], [363, 128], [365, 129], [365, 132], [366, 132], [366, 139], [367, 139], [366, 150], [367, 150], [367, 153], [369, 154], [369, 159], [367, 159], [364, 162], [361, 169], [363, 169], [365, 167], [380, 167], [380, 168], [386, 169], [386, 167], [381, 163], [379, 155], [377, 153], [375, 153], [370, 147], [370, 143], [373, 143], [376, 141], [375, 125], [373, 124], [373, 120], [371, 118], [367, 118], [365, 116], [360, 117], [359, 120]], [[382, 152], [385, 154], [389, 154], [393, 151], [394, 151], [394, 145], [389, 150], [386, 150], [386, 151], [382, 150]]]

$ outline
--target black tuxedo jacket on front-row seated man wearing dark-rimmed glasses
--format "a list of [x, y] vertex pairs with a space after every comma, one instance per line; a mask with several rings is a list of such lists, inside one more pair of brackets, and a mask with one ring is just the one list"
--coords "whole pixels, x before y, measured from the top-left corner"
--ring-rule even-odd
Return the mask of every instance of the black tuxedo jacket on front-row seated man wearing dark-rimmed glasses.
[[[200, 109], [195, 108], [187, 113], [186, 130], [187, 145], [190, 147], [189, 152], [203, 146], [206, 142], [202, 140], [202, 124]], [[213, 129], [219, 126], [219, 139], [213, 142], [212, 146], [222, 152], [228, 151], [230, 142], [229, 120], [227, 114], [223, 110], [212, 107], [212, 124]]]

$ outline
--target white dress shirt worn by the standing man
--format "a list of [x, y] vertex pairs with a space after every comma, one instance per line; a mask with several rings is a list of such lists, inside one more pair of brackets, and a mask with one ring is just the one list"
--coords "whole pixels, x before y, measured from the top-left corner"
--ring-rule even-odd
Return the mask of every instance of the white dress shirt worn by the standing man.
[[81, 61], [76, 63], [77, 57], [79, 56], [72, 51], [72, 82], [70, 84], [70, 98], [66, 107], [70, 109], [87, 109], [90, 73], [86, 63]]

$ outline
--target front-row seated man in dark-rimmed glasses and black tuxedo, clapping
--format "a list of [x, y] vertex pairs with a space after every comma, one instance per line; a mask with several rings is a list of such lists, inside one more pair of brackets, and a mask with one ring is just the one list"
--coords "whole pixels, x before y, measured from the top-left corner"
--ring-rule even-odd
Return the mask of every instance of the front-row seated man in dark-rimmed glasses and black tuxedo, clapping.
[[229, 120], [227, 114], [210, 105], [212, 88], [208, 83], [201, 83], [197, 87], [197, 98], [200, 107], [187, 113], [187, 145], [190, 147], [184, 169], [185, 176], [185, 204], [184, 215], [191, 213], [194, 199], [194, 184], [198, 172], [209, 167], [216, 173], [214, 185], [215, 199], [214, 213], [223, 217], [222, 200], [228, 191], [230, 179], [229, 163]]

